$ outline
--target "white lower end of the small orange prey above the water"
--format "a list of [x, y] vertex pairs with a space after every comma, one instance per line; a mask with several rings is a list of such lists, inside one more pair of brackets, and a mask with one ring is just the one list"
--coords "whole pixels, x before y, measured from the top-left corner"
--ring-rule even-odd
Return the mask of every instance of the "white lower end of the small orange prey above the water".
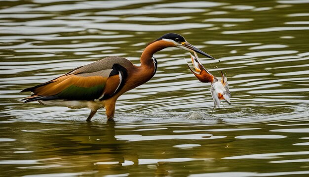
[[231, 92], [228, 85], [227, 77], [221, 71], [221, 82], [217, 81], [211, 84], [210, 92], [212, 99], [214, 100], [214, 107], [220, 107], [221, 100], [225, 100], [229, 104], [231, 98]]

